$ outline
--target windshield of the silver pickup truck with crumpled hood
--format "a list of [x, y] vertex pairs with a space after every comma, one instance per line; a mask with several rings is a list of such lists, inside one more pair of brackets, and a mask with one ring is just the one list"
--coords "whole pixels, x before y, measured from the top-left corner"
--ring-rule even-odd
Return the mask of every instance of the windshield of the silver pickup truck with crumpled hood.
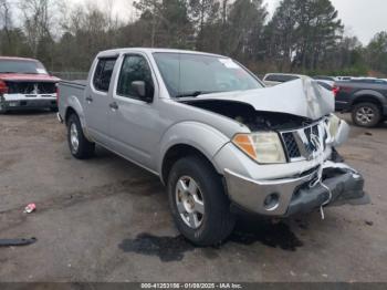
[[154, 58], [172, 97], [263, 87], [228, 58], [169, 52], [154, 53]]

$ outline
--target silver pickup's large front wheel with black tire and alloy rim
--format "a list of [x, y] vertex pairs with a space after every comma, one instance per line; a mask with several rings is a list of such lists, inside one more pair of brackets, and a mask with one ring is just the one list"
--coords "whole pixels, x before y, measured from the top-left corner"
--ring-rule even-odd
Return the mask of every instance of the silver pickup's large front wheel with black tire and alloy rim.
[[189, 156], [172, 166], [168, 196], [177, 228], [195, 245], [213, 246], [231, 234], [236, 221], [221, 177], [203, 158]]

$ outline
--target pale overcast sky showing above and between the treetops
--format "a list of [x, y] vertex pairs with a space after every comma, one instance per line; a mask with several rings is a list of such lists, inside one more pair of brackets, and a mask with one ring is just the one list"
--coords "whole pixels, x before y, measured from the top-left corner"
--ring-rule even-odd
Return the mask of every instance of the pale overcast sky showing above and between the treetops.
[[[90, 2], [93, 0], [71, 0], [71, 2]], [[133, 0], [94, 0], [106, 6], [112, 2], [114, 11], [119, 18], [130, 19], [135, 17], [132, 11]], [[93, 2], [94, 2], [93, 1]], [[348, 35], [356, 35], [364, 44], [383, 30], [387, 30], [387, 0], [331, 0], [338, 10], [338, 17], [343, 20]], [[280, 0], [265, 0], [272, 14]]]

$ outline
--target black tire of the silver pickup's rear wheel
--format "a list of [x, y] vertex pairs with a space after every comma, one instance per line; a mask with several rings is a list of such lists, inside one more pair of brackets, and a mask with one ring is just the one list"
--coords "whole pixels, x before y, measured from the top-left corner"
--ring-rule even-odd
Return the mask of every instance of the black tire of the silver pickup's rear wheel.
[[[75, 147], [72, 143], [72, 130], [77, 132], [79, 145]], [[86, 139], [83, 134], [81, 121], [77, 115], [72, 114], [67, 120], [67, 142], [71, 154], [77, 159], [88, 159], [94, 155], [95, 144]]]

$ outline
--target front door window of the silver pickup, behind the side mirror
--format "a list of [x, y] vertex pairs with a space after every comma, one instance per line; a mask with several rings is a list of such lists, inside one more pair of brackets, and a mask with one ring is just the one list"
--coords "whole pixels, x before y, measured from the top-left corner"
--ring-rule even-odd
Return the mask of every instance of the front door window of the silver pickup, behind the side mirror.
[[126, 55], [119, 73], [117, 94], [138, 100], [132, 86], [132, 83], [137, 81], [145, 83], [146, 95], [154, 94], [154, 82], [147, 61], [142, 55]]

